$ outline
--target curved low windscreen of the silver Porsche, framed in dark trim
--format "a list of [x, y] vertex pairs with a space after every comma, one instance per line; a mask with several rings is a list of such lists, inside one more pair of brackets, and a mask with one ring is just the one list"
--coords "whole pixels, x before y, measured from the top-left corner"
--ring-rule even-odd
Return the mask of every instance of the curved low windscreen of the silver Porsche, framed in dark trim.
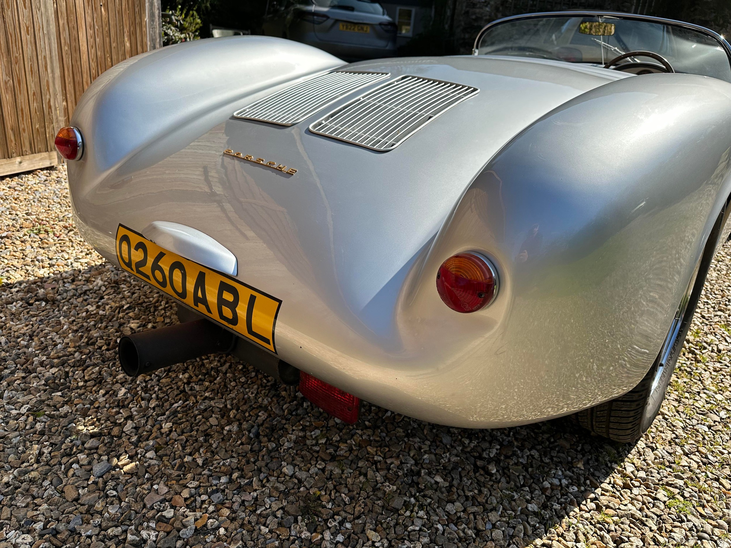
[[[630, 51], [651, 51], [675, 72], [731, 82], [731, 64], [712, 37], [681, 26], [609, 17], [536, 17], [489, 28], [480, 55], [523, 56], [572, 63], [606, 64]], [[637, 56], [623, 62], [657, 62]]]

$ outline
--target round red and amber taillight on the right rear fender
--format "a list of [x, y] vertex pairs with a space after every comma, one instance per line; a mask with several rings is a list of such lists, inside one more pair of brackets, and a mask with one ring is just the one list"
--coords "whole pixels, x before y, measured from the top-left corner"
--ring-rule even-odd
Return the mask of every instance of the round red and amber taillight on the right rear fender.
[[498, 294], [498, 275], [488, 259], [476, 253], [451, 256], [436, 273], [436, 291], [454, 311], [475, 312]]

